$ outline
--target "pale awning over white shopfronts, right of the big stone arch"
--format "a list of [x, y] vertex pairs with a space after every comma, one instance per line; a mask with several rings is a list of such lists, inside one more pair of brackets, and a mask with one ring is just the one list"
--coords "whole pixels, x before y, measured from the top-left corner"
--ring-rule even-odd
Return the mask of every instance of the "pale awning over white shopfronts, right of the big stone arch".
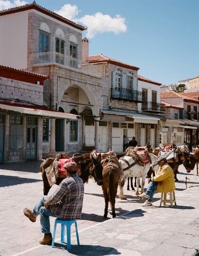
[[[119, 111], [112, 111], [112, 110], [102, 110], [102, 112], [107, 115], [117, 115], [117, 116], [133, 118], [135, 123], [157, 124], [158, 121], [160, 121], [159, 118], [147, 116], [147, 115], [143, 115], [143, 114], [139, 114], [139, 113], [119, 112]], [[125, 121], [125, 119], [124, 119], [124, 121]], [[118, 122], [122, 122], [122, 121], [120, 120]]]

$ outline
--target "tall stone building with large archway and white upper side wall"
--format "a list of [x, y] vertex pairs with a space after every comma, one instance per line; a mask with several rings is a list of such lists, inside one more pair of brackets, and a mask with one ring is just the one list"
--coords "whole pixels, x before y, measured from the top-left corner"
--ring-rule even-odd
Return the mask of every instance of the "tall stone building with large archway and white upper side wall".
[[51, 110], [80, 115], [78, 120], [51, 120], [54, 136], [44, 142], [43, 154], [98, 150], [101, 75], [93, 65], [82, 67], [85, 28], [35, 1], [0, 11], [0, 24], [0, 64], [47, 75], [43, 103]]

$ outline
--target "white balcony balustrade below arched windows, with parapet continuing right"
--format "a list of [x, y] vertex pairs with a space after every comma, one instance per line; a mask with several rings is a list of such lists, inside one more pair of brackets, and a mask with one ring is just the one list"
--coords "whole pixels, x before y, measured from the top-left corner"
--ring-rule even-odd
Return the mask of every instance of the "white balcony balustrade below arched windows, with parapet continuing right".
[[56, 64], [82, 73], [101, 76], [100, 70], [92, 64], [82, 65], [81, 60], [63, 55], [57, 52], [46, 52], [33, 54], [33, 66], [43, 66]]

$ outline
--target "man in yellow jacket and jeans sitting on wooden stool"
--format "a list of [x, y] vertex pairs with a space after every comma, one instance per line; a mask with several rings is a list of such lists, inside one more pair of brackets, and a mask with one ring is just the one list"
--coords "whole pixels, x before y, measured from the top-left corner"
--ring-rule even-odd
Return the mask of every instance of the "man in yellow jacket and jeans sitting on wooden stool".
[[175, 180], [172, 168], [167, 164], [165, 157], [160, 157], [158, 160], [159, 169], [157, 174], [148, 179], [149, 185], [145, 193], [138, 195], [141, 199], [146, 199], [142, 205], [152, 206], [152, 199], [155, 191], [157, 192], [172, 192], [175, 190]]

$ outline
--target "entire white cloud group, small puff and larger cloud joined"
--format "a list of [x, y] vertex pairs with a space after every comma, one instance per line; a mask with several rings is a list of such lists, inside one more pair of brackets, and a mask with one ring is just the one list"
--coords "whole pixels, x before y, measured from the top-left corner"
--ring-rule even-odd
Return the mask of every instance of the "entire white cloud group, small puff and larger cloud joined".
[[93, 15], [85, 15], [81, 18], [76, 18], [79, 14], [78, 7], [71, 4], [65, 4], [61, 9], [54, 10], [54, 12], [74, 22], [82, 23], [87, 27], [86, 36], [88, 38], [93, 38], [98, 33], [113, 32], [118, 35], [127, 32], [126, 20], [120, 15], [116, 15], [112, 18], [109, 15], [97, 12]]

